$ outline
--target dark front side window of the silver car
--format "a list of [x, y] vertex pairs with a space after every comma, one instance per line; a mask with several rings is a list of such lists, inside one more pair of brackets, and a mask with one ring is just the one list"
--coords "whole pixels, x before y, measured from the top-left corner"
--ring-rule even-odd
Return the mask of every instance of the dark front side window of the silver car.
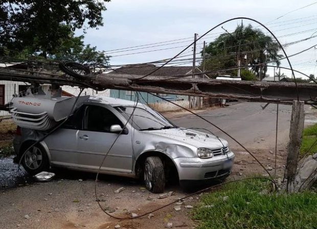
[[119, 118], [108, 109], [100, 106], [87, 106], [84, 130], [110, 132], [110, 126], [116, 124], [123, 128], [123, 124]]

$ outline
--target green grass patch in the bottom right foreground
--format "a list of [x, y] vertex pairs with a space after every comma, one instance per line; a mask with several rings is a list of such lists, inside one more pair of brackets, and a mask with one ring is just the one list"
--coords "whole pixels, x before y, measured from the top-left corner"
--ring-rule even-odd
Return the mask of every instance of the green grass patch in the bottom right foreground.
[[[224, 185], [203, 195], [193, 218], [199, 220], [200, 229], [317, 228], [317, 193], [260, 193], [269, 187], [262, 180]], [[229, 198], [223, 200], [223, 196]]]

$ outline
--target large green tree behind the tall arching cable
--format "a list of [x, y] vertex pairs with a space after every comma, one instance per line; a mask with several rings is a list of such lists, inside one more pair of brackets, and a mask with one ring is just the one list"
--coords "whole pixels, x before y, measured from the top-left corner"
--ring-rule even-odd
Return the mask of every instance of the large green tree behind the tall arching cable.
[[[266, 62], [279, 66], [280, 47], [270, 36], [249, 24], [238, 26], [233, 33], [223, 33], [205, 49], [207, 70], [219, 70], [240, 65], [258, 65], [250, 67], [259, 80], [265, 77]], [[263, 64], [261, 64], [263, 63]], [[228, 71], [224, 71], [228, 72]], [[232, 73], [232, 71], [229, 71]]]

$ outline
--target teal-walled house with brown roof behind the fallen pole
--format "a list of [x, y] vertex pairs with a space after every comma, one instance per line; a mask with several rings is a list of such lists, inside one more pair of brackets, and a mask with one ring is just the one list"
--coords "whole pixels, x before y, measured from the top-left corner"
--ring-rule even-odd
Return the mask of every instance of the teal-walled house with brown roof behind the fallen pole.
[[[188, 74], [188, 77], [191, 78], [192, 69], [193, 69], [192, 66], [164, 66], [159, 69], [159, 67], [155, 66], [154, 64], [130, 64], [130, 65], [125, 65], [123, 67], [117, 68], [111, 73], [112, 74], [140, 75], [141, 77], [143, 75], [147, 75], [151, 73], [152, 71], [156, 70], [151, 75], [155, 75], [158, 77], [173, 77], [174, 75]], [[202, 71], [198, 67], [196, 67], [195, 72], [202, 73]], [[206, 74], [195, 75], [195, 78], [203, 78], [203, 77], [209, 78]], [[161, 103], [163, 100], [147, 92], [140, 92], [139, 95], [140, 95], [139, 99], [141, 103], [154, 104], [154, 103]], [[157, 93], [157, 95], [165, 99], [168, 99], [170, 101], [188, 101], [188, 96], [185, 96], [185, 95], [159, 94], [159, 93]], [[110, 89], [110, 97], [134, 100], [135, 96], [136, 96], [135, 92], [133, 91]]]

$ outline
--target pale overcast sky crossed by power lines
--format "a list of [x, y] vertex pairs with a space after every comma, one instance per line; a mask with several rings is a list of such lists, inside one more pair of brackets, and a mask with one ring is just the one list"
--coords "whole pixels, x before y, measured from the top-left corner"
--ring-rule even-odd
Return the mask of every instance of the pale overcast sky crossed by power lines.
[[[309, 4], [313, 5], [300, 9]], [[317, 2], [308, 0], [112, 0], [106, 4], [106, 7], [107, 11], [103, 13], [104, 26], [98, 30], [88, 29], [85, 34], [85, 43], [97, 46], [98, 50], [105, 50], [107, 55], [112, 56], [110, 65], [144, 63], [171, 58], [184, 49], [183, 46], [193, 41], [194, 33], [198, 36], [202, 35], [216, 24], [234, 17], [250, 17], [260, 21], [274, 32], [282, 44], [308, 38], [314, 32], [316, 32], [314, 35], [317, 35], [315, 13]], [[262, 28], [259, 24], [246, 19], [242, 22]], [[223, 28], [230, 32], [240, 23], [241, 20], [228, 22], [223, 24]], [[263, 29], [263, 32], [266, 31]], [[80, 31], [77, 33], [79, 35]], [[224, 33], [221, 27], [197, 41], [197, 53], [202, 49], [204, 40], [209, 43], [220, 33]], [[165, 42], [175, 39], [177, 41]], [[129, 48], [138, 49], [128, 52], [119, 51], [129, 49], [114, 50], [156, 42], [165, 43]], [[289, 45], [285, 50], [287, 55], [291, 55], [315, 44], [317, 44], [317, 37]], [[160, 46], [149, 47], [155, 45]], [[151, 50], [157, 51], [148, 52]], [[146, 53], [127, 55], [137, 52]], [[291, 57], [293, 68], [306, 74], [317, 75], [316, 52], [317, 49], [311, 48], [301, 55]], [[182, 55], [193, 55], [192, 47]], [[192, 56], [186, 58], [192, 58]], [[192, 64], [185, 63], [184, 65]], [[282, 61], [281, 66], [289, 67], [286, 60]], [[291, 76], [288, 70], [281, 70], [281, 72]], [[273, 76], [274, 71], [269, 69], [267, 73]], [[300, 77], [299, 74], [296, 76]]]

